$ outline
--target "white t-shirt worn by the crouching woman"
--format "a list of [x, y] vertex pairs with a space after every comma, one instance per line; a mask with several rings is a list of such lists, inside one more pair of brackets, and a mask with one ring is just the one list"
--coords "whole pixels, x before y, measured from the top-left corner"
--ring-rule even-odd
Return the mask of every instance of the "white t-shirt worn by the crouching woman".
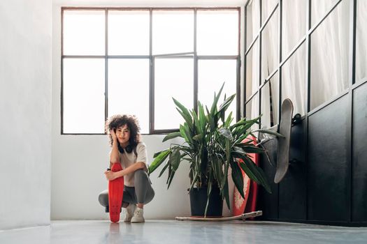
[[[134, 150], [131, 151], [131, 153], [127, 153], [127, 151], [124, 150], [124, 153], [120, 153], [120, 162], [122, 165], [122, 169], [126, 169], [130, 165], [133, 165], [136, 162], [144, 162], [145, 167], [149, 167], [147, 164], [147, 149], [144, 142], [139, 142], [138, 145], [136, 145], [136, 154], [134, 153]], [[127, 174], [124, 176], [124, 185], [127, 186], [135, 186], [134, 184], [134, 173], [131, 172], [130, 174]]]

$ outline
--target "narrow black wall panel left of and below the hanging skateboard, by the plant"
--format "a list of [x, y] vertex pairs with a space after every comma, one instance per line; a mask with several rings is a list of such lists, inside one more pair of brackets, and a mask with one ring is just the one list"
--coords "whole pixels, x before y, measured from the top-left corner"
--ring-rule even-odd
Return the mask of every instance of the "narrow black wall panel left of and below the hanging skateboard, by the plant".
[[[257, 209], [263, 211], [262, 219], [264, 220], [277, 220], [278, 219], [278, 185], [274, 183], [274, 176], [277, 162], [277, 148], [278, 142], [273, 139], [264, 144], [264, 148], [268, 151], [271, 163], [268, 161], [266, 155], [260, 155], [260, 167], [264, 169], [266, 178], [271, 185], [272, 193], [266, 192], [266, 190], [260, 186], [259, 195], [257, 201]], [[273, 164], [273, 165], [271, 165]]]

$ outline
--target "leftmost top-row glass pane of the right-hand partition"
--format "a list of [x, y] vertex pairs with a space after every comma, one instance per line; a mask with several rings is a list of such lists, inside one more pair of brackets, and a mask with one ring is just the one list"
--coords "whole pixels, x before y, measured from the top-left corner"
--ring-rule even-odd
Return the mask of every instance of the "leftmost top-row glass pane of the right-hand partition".
[[259, 32], [259, 13], [259, 0], [250, 1], [250, 4], [246, 7], [246, 50]]

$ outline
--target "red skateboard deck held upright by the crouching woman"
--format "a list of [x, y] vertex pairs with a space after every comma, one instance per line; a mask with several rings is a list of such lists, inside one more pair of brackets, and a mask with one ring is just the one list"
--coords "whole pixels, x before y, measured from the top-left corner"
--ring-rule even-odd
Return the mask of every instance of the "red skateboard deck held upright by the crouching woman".
[[[120, 162], [115, 162], [111, 170], [117, 172], [122, 170]], [[119, 222], [122, 205], [122, 197], [124, 193], [124, 177], [115, 178], [108, 181], [108, 206], [110, 208], [111, 222]]]

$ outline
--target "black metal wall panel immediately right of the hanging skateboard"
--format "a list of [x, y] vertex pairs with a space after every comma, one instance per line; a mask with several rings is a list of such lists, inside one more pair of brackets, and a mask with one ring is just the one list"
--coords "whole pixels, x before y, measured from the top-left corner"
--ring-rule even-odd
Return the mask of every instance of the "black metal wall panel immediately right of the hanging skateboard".
[[280, 220], [306, 220], [307, 188], [305, 166], [305, 123], [292, 126], [289, 148], [290, 165], [285, 178], [279, 183]]

